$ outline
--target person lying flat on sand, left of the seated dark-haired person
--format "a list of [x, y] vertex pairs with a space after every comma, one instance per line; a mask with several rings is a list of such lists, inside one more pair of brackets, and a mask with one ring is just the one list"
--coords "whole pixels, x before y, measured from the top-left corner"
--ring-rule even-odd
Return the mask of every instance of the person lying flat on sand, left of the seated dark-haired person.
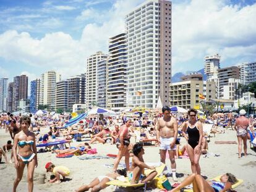
[[100, 175], [99, 177], [96, 177], [94, 180], [89, 185], [83, 185], [78, 188], [77, 192], [82, 192], [82, 191], [88, 191], [90, 188], [92, 189], [91, 192], [94, 191], [100, 191], [104, 188], [106, 188], [108, 185], [106, 185], [107, 182], [115, 180], [117, 177], [124, 176], [126, 177], [126, 170], [118, 169], [114, 173], [108, 173], [106, 175]]

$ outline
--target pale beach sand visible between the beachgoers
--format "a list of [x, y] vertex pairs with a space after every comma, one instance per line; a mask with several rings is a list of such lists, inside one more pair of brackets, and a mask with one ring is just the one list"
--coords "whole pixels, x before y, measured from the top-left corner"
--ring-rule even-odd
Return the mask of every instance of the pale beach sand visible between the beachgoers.
[[[48, 130], [48, 129], [47, 129]], [[47, 131], [45, 129], [45, 131]], [[0, 129], [0, 146], [5, 144], [7, 140], [10, 139], [9, 133], [5, 133], [4, 129]], [[231, 172], [236, 175], [237, 178], [244, 180], [244, 183], [236, 188], [236, 191], [255, 191], [255, 165], [256, 165], [256, 152], [248, 148], [248, 156], [238, 159], [237, 154], [237, 144], [215, 144], [215, 141], [237, 141], [236, 132], [232, 130], [226, 131], [226, 133], [216, 134], [216, 137], [212, 137], [209, 145], [210, 155], [200, 158], [200, 165], [202, 169], [202, 175], [210, 178], [214, 178], [226, 172]], [[181, 145], [185, 144], [184, 138], [181, 138]], [[74, 146], [77, 143], [71, 143]], [[98, 150], [98, 154], [106, 155], [108, 153], [117, 154], [116, 145], [107, 144], [92, 144], [93, 148]], [[249, 147], [249, 141], [248, 141]], [[216, 157], [214, 154], [220, 156]], [[114, 159], [90, 159], [90, 160], [80, 160], [77, 156], [70, 158], [56, 158], [56, 154], [51, 152], [43, 152], [38, 154], [38, 167], [35, 169], [34, 176], [34, 191], [74, 191], [81, 185], [90, 183], [93, 178], [98, 175], [105, 175], [110, 173], [111, 169], [104, 166], [104, 164], [113, 164]], [[8, 159], [10, 159], [10, 153], [8, 154]], [[160, 162], [160, 155], [158, 147], [145, 147], [145, 162]], [[2, 158], [4, 161], [4, 158]], [[68, 182], [62, 183], [48, 183], [50, 173], [46, 173], [45, 164], [46, 162], [53, 162], [55, 165], [65, 165], [70, 169], [70, 180]], [[122, 159], [121, 162], [124, 162]], [[166, 164], [170, 166], [169, 159], [166, 159]], [[178, 178], [181, 182], [187, 175], [191, 173], [190, 161], [189, 159], [176, 159], [177, 173], [184, 173], [184, 177]], [[0, 164], [0, 191], [12, 191], [12, 185], [16, 177], [16, 171], [14, 164]], [[41, 174], [46, 174], [46, 183], [38, 184], [38, 177]], [[27, 168], [23, 173], [22, 181], [18, 186], [17, 191], [27, 191]], [[169, 181], [172, 178], [169, 177]], [[109, 186], [102, 191], [115, 191], [115, 186]], [[118, 190], [123, 191], [123, 190]], [[130, 190], [135, 191], [135, 190]], [[159, 189], [153, 191], [160, 191]]]

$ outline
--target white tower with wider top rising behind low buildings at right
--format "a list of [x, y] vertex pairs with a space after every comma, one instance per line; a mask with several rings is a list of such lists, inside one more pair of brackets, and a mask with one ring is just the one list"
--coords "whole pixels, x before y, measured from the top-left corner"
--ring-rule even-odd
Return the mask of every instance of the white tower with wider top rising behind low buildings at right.
[[218, 77], [220, 58], [219, 54], [205, 56], [205, 74], [207, 74], [207, 80], [214, 80]]

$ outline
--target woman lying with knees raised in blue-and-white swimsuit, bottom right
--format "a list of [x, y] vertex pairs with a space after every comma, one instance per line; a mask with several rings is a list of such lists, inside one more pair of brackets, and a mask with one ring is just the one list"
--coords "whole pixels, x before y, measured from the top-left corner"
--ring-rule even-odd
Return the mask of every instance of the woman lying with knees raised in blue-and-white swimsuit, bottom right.
[[192, 173], [181, 184], [170, 192], [180, 191], [187, 185], [193, 183], [193, 191], [207, 191], [207, 192], [224, 192], [231, 189], [232, 185], [237, 182], [236, 177], [231, 173], [226, 173], [221, 176], [220, 182], [215, 180], [206, 181], [201, 175]]

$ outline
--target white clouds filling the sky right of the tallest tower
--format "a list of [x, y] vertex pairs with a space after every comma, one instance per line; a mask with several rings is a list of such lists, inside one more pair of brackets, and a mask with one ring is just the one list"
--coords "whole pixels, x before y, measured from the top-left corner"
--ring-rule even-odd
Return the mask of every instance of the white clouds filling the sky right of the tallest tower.
[[[256, 46], [256, 4], [228, 6], [221, 0], [193, 0], [173, 4], [173, 64], [203, 56], [221, 55], [221, 61], [252, 59]], [[244, 58], [244, 59], [242, 59]], [[229, 64], [229, 65], [232, 65]], [[186, 66], [187, 67], [187, 66]]]

